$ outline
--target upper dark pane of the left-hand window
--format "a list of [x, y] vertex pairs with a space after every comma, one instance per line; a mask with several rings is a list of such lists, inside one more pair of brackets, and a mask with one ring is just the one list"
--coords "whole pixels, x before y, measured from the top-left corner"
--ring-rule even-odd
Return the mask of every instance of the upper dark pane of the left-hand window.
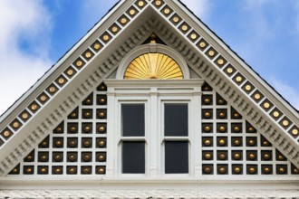
[[144, 104], [122, 104], [122, 136], [144, 136]]

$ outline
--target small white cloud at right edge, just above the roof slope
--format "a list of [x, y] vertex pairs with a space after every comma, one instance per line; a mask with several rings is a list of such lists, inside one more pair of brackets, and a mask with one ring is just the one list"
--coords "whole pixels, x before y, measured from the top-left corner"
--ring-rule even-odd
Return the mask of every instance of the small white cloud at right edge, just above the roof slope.
[[285, 100], [289, 101], [295, 109], [299, 110], [299, 92], [294, 87], [279, 81], [275, 78], [270, 79], [271, 85], [280, 93]]

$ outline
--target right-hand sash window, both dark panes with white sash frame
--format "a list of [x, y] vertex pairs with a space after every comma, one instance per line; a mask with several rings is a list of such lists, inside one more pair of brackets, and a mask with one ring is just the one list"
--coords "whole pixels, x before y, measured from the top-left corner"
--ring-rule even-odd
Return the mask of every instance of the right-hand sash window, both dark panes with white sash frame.
[[[174, 108], [176, 110], [179, 105], [182, 105], [177, 113], [175, 111], [169, 111]], [[189, 115], [190, 115], [190, 102], [189, 101], [161, 101], [161, 150], [163, 151], [163, 174], [164, 175], [188, 175], [190, 172], [190, 134], [189, 134]], [[166, 113], [169, 111], [169, 114]], [[175, 116], [174, 116], [175, 115]], [[169, 118], [167, 118], [169, 117]], [[182, 118], [184, 117], [184, 118]], [[171, 122], [171, 118], [174, 121]], [[183, 120], [183, 121], [182, 121]], [[183, 128], [178, 127], [181, 122]], [[168, 123], [168, 124], [167, 124]], [[182, 130], [182, 132], [167, 132], [167, 125], [175, 123], [175, 129]], [[171, 127], [172, 128], [172, 127]], [[182, 144], [179, 146], [179, 144]], [[178, 149], [171, 146], [177, 146]]]

